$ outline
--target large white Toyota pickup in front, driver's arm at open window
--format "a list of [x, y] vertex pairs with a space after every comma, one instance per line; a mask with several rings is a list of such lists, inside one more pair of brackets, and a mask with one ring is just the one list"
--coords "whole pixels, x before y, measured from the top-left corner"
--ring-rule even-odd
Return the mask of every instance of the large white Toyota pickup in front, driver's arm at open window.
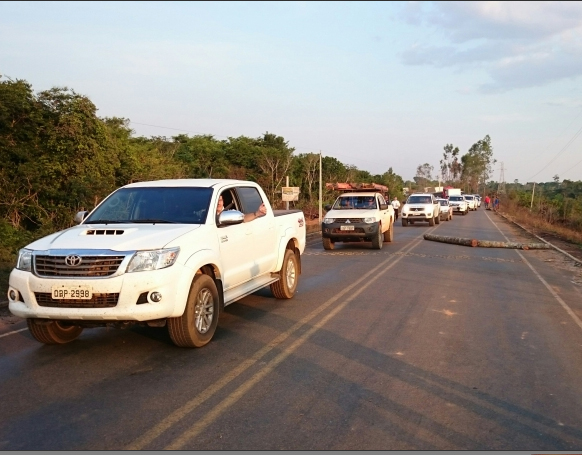
[[200, 347], [224, 306], [268, 285], [280, 299], [297, 289], [303, 213], [273, 211], [253, 182], [133, 183], [75, 218], [20, 250], [10, 274], [10, 311], [42, 343], [141, 323]]

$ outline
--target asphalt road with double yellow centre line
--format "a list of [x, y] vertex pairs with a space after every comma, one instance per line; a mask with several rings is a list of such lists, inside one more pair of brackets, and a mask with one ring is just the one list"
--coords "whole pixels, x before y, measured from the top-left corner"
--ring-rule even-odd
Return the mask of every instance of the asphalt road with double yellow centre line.
[[0, 323], [0, 450], [582, 449], [581, 268], [480, 209], [395, 241], [309, 242], [292, 300], [227, 307], [214, 340]]

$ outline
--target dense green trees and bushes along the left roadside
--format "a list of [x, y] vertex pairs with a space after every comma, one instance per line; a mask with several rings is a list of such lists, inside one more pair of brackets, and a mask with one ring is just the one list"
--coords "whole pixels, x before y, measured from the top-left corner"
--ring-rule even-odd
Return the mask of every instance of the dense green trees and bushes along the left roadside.
[[[125, 118], [101, 118], [84, 95], [68, 88], [34, 92], [24, 80], [0, 77], [0, 301], [17, 251], [73, 224], [114, 189], [169, 178], [235, 178], [259, 183], [274, 207], [281, 187], [300, 188], [291, 206], [318, 213], [319, 153], [296, 154], [283, 137], [212, 135], [136, 137]], [[402, 197], [392, 169], [377, 175], [322, 159], [323, 183], [386, 185]], [[325, 190], [324, 203], [335, 198]]]

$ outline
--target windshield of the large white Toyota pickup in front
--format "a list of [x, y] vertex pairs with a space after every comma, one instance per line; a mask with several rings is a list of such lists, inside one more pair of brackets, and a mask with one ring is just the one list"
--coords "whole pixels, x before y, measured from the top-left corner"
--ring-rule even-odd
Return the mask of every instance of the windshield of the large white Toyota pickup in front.
[[204, 224], [212, 188], [122, 188], [111, 194], [84, 224]]

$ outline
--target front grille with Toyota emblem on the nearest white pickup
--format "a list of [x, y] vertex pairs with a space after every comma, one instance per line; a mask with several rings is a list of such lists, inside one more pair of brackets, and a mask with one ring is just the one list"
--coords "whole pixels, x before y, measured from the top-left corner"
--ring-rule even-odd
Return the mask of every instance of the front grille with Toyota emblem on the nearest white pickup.
[[81, 256], [77, 266], [67, 265], [67, 256], [35, 256], [34, 269], [38, 276], [52, 277], [100, 277], [111, 276], [125, 256]]

